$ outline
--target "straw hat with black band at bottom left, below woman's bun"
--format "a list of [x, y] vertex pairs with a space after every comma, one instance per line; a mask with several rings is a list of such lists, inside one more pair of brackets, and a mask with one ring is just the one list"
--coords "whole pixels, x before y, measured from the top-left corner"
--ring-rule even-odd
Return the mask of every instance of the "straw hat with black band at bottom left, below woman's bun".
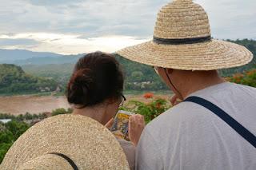
[[129, 169], [111, 132], [78, 115], [47, 118], [29, 128], [6, 153], [1, 169]]

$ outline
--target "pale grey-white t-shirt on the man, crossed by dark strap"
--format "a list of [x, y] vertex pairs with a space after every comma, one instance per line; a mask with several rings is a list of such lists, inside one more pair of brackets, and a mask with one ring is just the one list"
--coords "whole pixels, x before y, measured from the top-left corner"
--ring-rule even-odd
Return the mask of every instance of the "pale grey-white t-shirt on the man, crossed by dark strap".
[[[256, 136], [256, 89], [225, 82], [190, 96], [223, 109]], [[182, 102], [151, 121], [136, 148], [136, 169], [256, 169], [256, 148], [210, 110]]]

